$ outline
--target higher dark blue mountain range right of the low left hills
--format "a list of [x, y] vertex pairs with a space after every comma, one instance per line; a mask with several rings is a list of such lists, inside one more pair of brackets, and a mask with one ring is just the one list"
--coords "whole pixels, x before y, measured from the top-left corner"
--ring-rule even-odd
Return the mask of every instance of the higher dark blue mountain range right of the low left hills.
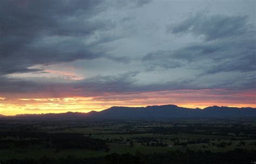
[[98, 118], [188, 118], [188, 117], [250, 117], [256, 116], [255, 108], [231, 108], [210, 106], [205, 109], [182, 108], [177, 105], [146, 107], [113, 106], [90, 115]]

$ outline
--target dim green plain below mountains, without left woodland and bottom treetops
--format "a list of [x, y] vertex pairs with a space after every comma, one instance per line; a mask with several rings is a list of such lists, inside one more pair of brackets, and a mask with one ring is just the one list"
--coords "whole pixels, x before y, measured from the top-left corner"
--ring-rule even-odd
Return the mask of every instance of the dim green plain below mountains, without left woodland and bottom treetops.
[[[11, 128], [10, 128], [11, 127]], [[1, 147], [0, 159], [39, 159], [42, 156], [62, 158], [74, 155], [80, 158], [98, 157], [111, 153], [143, 154], [166, 153], [174, 151], [212, 151], [226, 152], [235, 148], [256, 149], [256, 124], [252, 120], [115, 120], [72, 122], [0, 122], [0, 132], [33, 132], [46, 134], [80, 133], [85, 137], [106, 142], [106, 151], [87, 148], [56, 149], [51, 140], [28, 146]], [[26, 141], [30, 137], [0, 138], [2, 144], [12, 141]], [[34, 138], [35, 139], [35, 138]], [[76, 140], [76, 139], [74, 139]], [[49, 142], [49, 143], [48, 143]], [[191, 144], [192, 142], [192, 144]], [[185, 143], [185, 144], [184, 144]], [[221, 146], [222, 143], [222, 146]], [[152, 145], [153, 144], [153, 145]], [[159, 145], [161, 144], [161, 145]], [[45, 146], [48, 145], [48, 146]], [[50, 145], [50, 146], [49, 146]]]

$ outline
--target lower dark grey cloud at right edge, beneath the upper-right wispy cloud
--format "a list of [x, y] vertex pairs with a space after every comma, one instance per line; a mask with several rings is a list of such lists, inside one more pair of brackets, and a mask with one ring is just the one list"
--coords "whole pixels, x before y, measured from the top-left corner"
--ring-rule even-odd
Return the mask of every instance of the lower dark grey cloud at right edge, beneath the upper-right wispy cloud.
[[250, 37], [198, 44], [181, 48], [172, 57], [189, 61], [188, 67], [201, 69], [204, 74], [252, 72], [256, 70], [254, 44]]

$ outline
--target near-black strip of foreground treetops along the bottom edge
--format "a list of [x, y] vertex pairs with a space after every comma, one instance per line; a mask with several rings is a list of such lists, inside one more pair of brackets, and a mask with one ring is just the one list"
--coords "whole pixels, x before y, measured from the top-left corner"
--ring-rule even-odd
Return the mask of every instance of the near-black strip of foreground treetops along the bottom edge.
[[256, 161], [256, 151], [246, 151], [235, 149], [225, 153], [213, 153], [210, 151], [190, 151], [142, 154], [137, 152], [132, 154], [112, 153], [99, 158], [76, 158], [67, 156], [66, 158], [48, 158], [44, 156], [39, 160], [34, 159], [11, 159], [0, 161], [5, 164], [198, 164], [198, 163], [221, 163], [221, 164], [246, 164]]

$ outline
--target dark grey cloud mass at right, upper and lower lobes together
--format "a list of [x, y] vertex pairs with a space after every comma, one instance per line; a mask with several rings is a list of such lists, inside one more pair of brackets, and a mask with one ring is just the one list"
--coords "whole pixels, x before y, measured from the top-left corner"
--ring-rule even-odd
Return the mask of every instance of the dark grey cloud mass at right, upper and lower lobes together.
[[185, 67], [201, 70], [201, 75], [256, 70], [255, 31], [246, 16], [196, 15], [167, 31], [203, 35], [205, 40], [174, 51], [149, 53], [143, 58], [147, 68]]

